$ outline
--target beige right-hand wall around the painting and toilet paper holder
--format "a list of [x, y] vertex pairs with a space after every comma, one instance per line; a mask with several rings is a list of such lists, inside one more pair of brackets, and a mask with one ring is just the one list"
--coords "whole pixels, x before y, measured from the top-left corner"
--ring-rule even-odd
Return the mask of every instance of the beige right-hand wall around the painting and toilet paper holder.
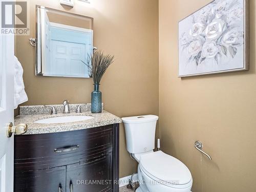
[[[256, 188], [255, 1], [250, 1], [250, 70], [178, 78], [178, 21], [211, 0], [159, 0], [160, 137], [191, 170], [195, 192]], [[194, 148], [200, 140], [209, 161]]]

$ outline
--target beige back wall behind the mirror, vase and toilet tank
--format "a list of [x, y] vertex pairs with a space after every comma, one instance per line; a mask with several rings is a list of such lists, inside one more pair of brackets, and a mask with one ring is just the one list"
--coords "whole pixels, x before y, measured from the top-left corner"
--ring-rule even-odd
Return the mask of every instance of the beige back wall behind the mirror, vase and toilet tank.
[[[119, 117], [158, 115], [158, 1], [93, 0], [91, 5], [74, 1], [66, 11], [94, 17], [94, 45], [114, 54], [115, 62], [101, 81], [105, 109]], [[29, 0], [30, 36], [16, 38], [16, 55], [24, 68], [29, 101], [23, 105], [91, 102], [92, 79], [35, 76], [35, 5], [64, 10], [59, 1]], [[120, 126], [120, 176], [137, 171], [130, 159], [123, 126]]]

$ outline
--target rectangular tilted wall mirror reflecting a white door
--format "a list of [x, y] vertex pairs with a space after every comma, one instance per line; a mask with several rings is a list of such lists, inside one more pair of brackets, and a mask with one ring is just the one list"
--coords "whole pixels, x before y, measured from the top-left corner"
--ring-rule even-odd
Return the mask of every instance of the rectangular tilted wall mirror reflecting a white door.
[[36, 75], [89, 78], [93, 18], [36, 6]]

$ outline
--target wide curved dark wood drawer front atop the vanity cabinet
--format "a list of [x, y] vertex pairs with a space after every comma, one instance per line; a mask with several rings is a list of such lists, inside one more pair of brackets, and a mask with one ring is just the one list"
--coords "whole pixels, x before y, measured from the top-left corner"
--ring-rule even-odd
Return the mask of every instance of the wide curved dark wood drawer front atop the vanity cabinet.
[[[54, 167], [72, 164], [86, 156], [109, 151], [113, 146], [113, 125], [91, 129], [15, 136], [15, 167]], [[62, 162], [60, 164], [60, 162]]]

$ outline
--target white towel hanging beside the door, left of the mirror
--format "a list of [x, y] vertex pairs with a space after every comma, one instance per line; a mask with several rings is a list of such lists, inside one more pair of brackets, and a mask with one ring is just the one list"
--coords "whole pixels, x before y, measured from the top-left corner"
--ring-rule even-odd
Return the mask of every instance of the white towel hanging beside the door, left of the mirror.
[[17, 57], [14, 58], [14, 62], [14, 109], [16, 109], [20, 103], [24, 103], [28, 100], [28, 96], [25, 92], [23, 82], [22, 65], [18, 61]]

